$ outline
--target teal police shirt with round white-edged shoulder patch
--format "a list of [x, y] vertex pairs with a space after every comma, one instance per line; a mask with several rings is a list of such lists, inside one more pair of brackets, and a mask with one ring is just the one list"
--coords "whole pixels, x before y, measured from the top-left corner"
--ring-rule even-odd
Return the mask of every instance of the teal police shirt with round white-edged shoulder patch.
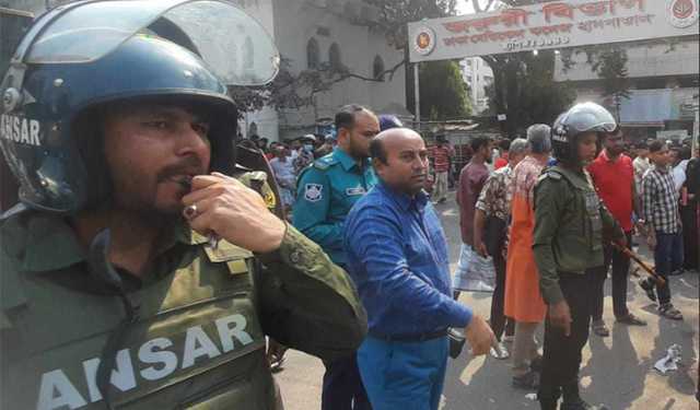
[[292, 224], [314, 241], [337, 265], [346, 265], [343, 224], [350, 208], [377, 178], [369, 161], [362, 167], [336, 148], [299, 176]]

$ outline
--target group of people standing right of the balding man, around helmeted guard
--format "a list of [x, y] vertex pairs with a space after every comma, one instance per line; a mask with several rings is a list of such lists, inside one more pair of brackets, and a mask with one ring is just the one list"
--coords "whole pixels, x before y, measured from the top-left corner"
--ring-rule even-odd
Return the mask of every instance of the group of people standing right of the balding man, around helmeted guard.
[[[506, 359], [512, 353], [513, 386], [538, 390], [542, 408], [555, 408], [551, 402], [562, 391], [564, 402], [580, 402], [575, 380], [581, 348], [588, 338], [588, 318], [596, 336], [610, 333], [603, 320], [608, 273], [616, 323], [646, 326], [627, 306], [631, 267], [626, 250], [637, 249], [635, 237], [646, 239], [655, 271], [663, 278], [646, 288], [650, 297], [657, 301], [661, 316], [682, 319], [672, 303], [668, 277], [684, 270], [698, 272], [698, 152], [690, 159], [690, 147], [663, 140], [626, 143], [621, 128], [604, 108], [590, 104], [580, 109], [579, 116], [587, 109], [590, 115], [607, 117], [608, 129], [593, 136], [598, 141], [588, 142], [587, 156], [578, 165], [570, 165], [576, 164], [571, 160], [575, 153], [567, 157], [556, 150], [557, 138], [561, 139], [558, 133], [561, 128], [567, 130], [561, 122], [576, 116], [570, 110], [553, 129], [533, 125], [526, 140], [499, 143], [501, 152], [509, 150], [506, 155], [492, 155], [488, 139], [474, 138], [474, 156], [462, 169], [456, 192], [463, 247], [455, 295], [459, 294], [460, 277], [468, 274], [459, 271], [469, 269], [464, 261], [474, 260], [474, 254], [490, 257], [495, 280], [489, 321], [499, 340], [491, 355]], [[485, 164], [494, 156], [506, 165], [489, 172]], [[572, 173], [576, 166], [578, 172]], [[568, 187], [587, 192], [579, 213], [584, 221], [586, 215], [599, 214], [592, 218], [590, 226], [580, 226], [581, 214], [568, 210], [576, 208]], [[598, 202], [604, 207], [598, 209]], [[607, 230], [603, 230], [605, 224]], [[593, 242], [586, 237], [590, 230], [597, 231]], [[567, 234], [573, 236], [553, 246], [553, 237]], [[552, 329], [558, 321], [567, 338]], [[544, 358], [535, 338], [542, 324]], [[513, 341], [511, 352], [500, 342], [503, 331]], [[551, 406], [546, 407], [547, 402]]]

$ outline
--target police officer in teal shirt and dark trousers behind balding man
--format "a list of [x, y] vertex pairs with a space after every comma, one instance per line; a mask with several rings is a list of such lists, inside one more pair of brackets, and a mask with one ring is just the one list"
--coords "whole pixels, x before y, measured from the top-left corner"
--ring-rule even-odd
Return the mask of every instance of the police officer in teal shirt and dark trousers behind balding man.
[[[342, 233], [350, 208], [376, 184], [369, 162], [370, 141], [380, 132], [377, 117], [360, 105], [336, 114], [338, 147], [299, 176], [292, 223], [345, 268]], [[313, 297], [310, 295], [310, 297]], [[322, 409], [370, 409], [355, 355], [325, 363]]]

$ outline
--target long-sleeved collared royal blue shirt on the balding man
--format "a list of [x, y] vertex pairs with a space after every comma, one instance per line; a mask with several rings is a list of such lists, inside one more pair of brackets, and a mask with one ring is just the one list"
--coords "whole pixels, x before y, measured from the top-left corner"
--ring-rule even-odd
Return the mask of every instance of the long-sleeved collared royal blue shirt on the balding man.
[[345, 246], [371, 335], [469, 324], [471, 311], [452, 298], [447, 243], [425, 192], [411, 198], [380, 183], [350, 211]]

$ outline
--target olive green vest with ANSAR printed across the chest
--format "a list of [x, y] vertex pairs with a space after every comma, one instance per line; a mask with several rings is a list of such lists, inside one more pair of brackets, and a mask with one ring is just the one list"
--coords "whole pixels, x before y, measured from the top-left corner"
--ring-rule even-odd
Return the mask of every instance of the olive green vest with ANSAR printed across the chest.
[[[128, 293], [139, 318], [115, 349], [112, 406], [275, 408], [253, 255], [224, 242], [212, 249], [206, 239], [177, 246], [178, 251], [165, 255], [172, 269]], [[26, 271], [22, 255], [14, 259], [2, 250], [0, 407], [107, 408], [96, 372], [108, 338], [125, 317], [119, 298], [80, 289], [89, 280], [81, 271], [85, 263]]]

